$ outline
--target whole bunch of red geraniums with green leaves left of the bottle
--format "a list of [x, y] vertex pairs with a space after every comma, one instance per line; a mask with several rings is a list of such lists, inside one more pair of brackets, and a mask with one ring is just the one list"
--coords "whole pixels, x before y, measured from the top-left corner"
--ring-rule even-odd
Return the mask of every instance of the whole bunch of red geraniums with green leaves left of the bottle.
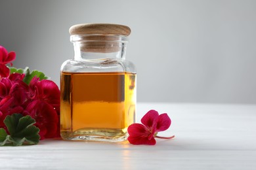
[[60, 90], [40, 71], [16, 69], [0, 46], [0, 145], [36, 144], [60, 136]]

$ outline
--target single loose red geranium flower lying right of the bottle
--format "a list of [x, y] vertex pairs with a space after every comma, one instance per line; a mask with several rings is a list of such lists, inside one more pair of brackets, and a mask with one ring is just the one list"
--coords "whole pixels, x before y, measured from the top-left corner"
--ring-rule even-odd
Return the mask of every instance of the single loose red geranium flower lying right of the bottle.
[[159, 131], [165, 131], [171, 126], [171, 119], [166, 113], [158, 114], [156, 110], [149, 110], [141, 119], [142, 124], [131, 124], [128, 127], [128, 141], [131, 144], [156, 144], [156, 138], [172, 139], [172, 137], [160, 137]]

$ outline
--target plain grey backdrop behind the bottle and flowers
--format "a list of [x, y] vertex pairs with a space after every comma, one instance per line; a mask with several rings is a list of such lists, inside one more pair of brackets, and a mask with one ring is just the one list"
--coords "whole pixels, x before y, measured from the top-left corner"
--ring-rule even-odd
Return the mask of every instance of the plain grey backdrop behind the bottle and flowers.
[[0, 1], [14, 66], [57, 84], [74, 56], [68, 29], [81, 23], [131, 27], [139, 102], [256, 103], [256, 1]]

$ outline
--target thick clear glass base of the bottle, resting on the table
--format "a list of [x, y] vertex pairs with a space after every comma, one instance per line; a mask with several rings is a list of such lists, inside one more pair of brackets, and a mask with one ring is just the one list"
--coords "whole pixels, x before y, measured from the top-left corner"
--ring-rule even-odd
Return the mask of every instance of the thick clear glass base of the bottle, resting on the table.
[[[127, 129], [127, 128], [126, 128]], [[121, 142], [129, 136], [122, 129], [78, 129], [77, 131], [61, 131], [60, 135], [65, 141], [102, 141]]]

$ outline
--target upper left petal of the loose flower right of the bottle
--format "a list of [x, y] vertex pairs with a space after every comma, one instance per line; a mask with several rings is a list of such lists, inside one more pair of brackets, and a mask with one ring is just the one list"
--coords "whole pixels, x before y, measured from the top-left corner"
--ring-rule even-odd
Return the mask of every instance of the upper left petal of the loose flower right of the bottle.
[[144, 126], [148, 127], [148, 129], [154, 131], [157, 120], [158, 120], [158, 112], [156, 110], [149, 110], [142, 118], [141, 122]]

